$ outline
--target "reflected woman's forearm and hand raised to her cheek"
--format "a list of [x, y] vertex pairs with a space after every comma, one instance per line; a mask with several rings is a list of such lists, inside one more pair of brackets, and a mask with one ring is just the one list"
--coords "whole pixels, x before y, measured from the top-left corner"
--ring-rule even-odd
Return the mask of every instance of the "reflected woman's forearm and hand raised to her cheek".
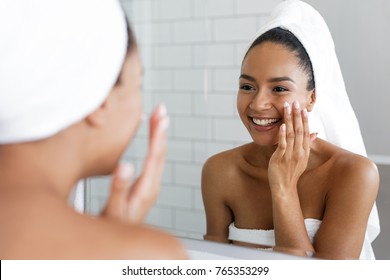
[[285, 104], [284, 116], [279, 144], [268, 168], [275, 244], [276, 247], [299, 250], [303, 254], [314, 253], [304, 224], [297, 183], [306, 169], [310, 144], [315, 136], [310, 135], [307, 112], [299, 108], [297, 101], [293, 103], [293, 108]]

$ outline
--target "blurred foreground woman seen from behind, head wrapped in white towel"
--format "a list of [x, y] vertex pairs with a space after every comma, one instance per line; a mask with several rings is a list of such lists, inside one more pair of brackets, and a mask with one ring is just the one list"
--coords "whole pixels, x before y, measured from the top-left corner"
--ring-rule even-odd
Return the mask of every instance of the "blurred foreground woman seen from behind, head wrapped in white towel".
[[[1, 1], [1, 259], [185, 258], [176, 239], [142, 225], [164, 165], [164, 106], [150, 118], [149, 153], [131, 188], [132, 168], [118, 163], [142, 113], [142, 67], [126, 25], [115, 0]], [[111, 173], [100, 217], [68, 206], [76, 182]]]

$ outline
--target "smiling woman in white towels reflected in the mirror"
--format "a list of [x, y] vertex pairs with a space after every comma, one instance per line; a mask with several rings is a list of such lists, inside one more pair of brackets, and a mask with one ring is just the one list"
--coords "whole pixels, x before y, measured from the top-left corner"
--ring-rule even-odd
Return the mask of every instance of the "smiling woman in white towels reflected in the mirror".
[[374, 258], [366, 228], [378, 171], [351, 152], [363, 142], [333, 41], [312, 7], [285, 1], [275, 9], [243, 59], [237, 109], [253, 142], [204, 165], [205, 239]]

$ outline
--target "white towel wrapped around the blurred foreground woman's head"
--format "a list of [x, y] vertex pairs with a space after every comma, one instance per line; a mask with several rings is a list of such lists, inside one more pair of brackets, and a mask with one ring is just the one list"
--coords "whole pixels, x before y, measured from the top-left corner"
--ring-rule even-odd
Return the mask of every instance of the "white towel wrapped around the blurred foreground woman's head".
[[0, 38], [0, 144], [50, 137], [97, 109], [127, 49], [117, 0], [2, 0]]

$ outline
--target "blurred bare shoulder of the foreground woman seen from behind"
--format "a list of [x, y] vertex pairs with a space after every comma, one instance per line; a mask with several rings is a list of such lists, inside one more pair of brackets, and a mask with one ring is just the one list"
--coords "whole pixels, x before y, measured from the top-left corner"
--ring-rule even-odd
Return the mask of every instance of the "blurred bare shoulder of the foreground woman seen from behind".
[[16, 206], [1, 220], [2, 259], [186, 258], [179, 240], [145, 225], [81, 215], [50, 198]]

